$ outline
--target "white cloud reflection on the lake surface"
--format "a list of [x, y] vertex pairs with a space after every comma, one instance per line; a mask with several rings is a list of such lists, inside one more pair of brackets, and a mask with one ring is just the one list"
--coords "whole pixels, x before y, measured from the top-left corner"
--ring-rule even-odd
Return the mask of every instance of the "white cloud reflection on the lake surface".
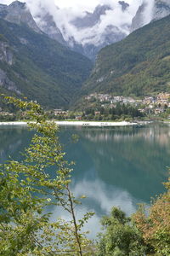
[[[106, 188], [103, 181], [96, 179], [88, 181], [72, 181], [71, 191], [77, 198], [81, 195], [86, 195], [87, 199], [82, 200], [82, 205], [77, 206], [77, 218], [82, 218], [86, 212], [95, 212], [94, 217], [90, 218], [88, 224], [85, 224], [84, 231], [90, 230], [89, 237], [94, 239], [101, 230], [99, 219], [108, 215], [111, 212], [111, 207], [120, 207], [123, 212], [130, 216], [137, 209], [138, 199], [134, 199], [126, 190], [110, 186]], [[63, 218], [67, 221], [71, 220], [68, 212], [65, 212], [61, 207], [54, 207], [50, 209], [53, 212], [52, 220], [56, 218]]]

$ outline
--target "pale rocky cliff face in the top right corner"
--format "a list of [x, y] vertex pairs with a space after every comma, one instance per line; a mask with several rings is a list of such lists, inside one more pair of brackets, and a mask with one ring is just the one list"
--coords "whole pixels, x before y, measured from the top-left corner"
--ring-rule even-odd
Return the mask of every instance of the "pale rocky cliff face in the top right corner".
[[133, 18], [130, 31], [133, 32], [151, 21], [160, 20], [167, 15], [170, 15], [169, 0], [151, 0], [150, 2], [144, 0]]

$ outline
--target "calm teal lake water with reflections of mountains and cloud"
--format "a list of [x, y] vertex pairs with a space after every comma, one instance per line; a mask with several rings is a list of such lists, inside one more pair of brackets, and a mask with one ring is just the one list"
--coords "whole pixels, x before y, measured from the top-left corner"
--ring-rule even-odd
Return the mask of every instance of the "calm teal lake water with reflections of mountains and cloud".
[[[79, 142], [71, 143], [77, 134]], [[26, 127], [0, 126], [0, 162], [20, 160], [20, 151], [30, 142], [32, 133]], [[99, 218], [119, 206], [127, 214], [137, 203], [150, 203], [150, 197], [164, 191], [167, 166], [170, 166], [170, 125], [144, 127], [89, 128], [61, 127], [60, 140], [68, 160], [76, 166], [72, 173], [75, 195], [87, 195], [77, 215], [96, 212], [89, 222], [92, 235], [99, 230]], [[51, 209], [54, 216], [65, 216]]]

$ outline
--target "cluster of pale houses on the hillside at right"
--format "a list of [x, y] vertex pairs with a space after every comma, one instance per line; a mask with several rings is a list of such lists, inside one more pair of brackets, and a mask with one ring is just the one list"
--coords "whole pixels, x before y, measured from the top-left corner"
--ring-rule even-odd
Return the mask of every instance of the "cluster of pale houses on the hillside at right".
[[97, 101], [102, 107], [114, 108], [116, 103], [132, 104], [139, 108], [142, 113], [163, 113], [165, 108], [170, 108], [170, 93], [162, 92], [156, 96], [144, 96], [142, 98], [133, 98], [127, 96], [112, 96], [110, 94], [94, 93], [86, 96], [88, 102]]

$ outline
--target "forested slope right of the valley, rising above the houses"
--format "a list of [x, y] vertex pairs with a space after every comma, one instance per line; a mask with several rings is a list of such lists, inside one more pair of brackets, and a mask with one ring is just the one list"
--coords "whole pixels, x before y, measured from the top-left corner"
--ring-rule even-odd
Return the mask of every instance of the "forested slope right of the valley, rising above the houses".
[[101, 49], [82, 94], [143, 96], [170, 91], [170, 16]]

